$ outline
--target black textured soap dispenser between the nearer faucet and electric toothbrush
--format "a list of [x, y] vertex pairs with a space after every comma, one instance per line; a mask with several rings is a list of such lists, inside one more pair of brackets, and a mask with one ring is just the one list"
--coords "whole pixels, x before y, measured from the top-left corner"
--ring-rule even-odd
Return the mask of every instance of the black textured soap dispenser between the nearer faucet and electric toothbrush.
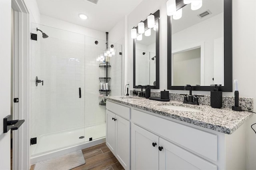
[[211, 91], [211, 107], [221, 108], [222, 107], [222, 91], [219, 91], [217, 84], [214, 86], [215, 86], [214, 90]]

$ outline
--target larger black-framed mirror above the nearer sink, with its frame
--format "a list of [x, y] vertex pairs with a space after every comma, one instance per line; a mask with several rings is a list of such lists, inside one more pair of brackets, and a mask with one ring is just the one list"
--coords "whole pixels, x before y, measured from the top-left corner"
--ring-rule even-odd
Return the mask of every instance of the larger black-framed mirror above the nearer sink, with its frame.
[[168, 16], [168, 89], [232, 91], [232, 0], [202, 0], [202, 7], [176, 0], [182, 17]]

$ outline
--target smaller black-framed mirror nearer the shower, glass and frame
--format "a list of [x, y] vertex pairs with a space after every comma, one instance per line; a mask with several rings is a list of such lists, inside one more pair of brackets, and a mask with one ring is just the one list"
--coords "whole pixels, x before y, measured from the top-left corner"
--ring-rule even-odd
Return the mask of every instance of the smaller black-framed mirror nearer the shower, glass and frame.
[[[151, 89], [159, 89], [159, 17], [160, 10], [154, 14], [155, 26], [148, 28], [147, 20], [144, 20], [145, 33], [142, 40], [133, 41], [133, 88], [142, 85], [150, 85]], [[148, 34], [149, 35], [149, 34]]]

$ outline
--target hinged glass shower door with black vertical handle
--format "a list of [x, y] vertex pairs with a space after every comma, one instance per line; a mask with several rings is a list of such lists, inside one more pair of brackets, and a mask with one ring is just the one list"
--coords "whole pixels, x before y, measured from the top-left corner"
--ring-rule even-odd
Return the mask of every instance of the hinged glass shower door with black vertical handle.
[[[40, 29], [44, 34], [42, 34]], [[85, 37], [32, 24], [31, 156], [85, 142]], [[37, 78], [36, 78], [37, 77]]]

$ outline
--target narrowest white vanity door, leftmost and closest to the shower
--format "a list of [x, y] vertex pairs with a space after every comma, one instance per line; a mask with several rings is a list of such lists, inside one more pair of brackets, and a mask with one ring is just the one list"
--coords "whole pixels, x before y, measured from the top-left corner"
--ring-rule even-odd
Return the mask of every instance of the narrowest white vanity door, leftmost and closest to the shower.
[[106, 110], [106, 145], [115, 154], [116, 115]]

